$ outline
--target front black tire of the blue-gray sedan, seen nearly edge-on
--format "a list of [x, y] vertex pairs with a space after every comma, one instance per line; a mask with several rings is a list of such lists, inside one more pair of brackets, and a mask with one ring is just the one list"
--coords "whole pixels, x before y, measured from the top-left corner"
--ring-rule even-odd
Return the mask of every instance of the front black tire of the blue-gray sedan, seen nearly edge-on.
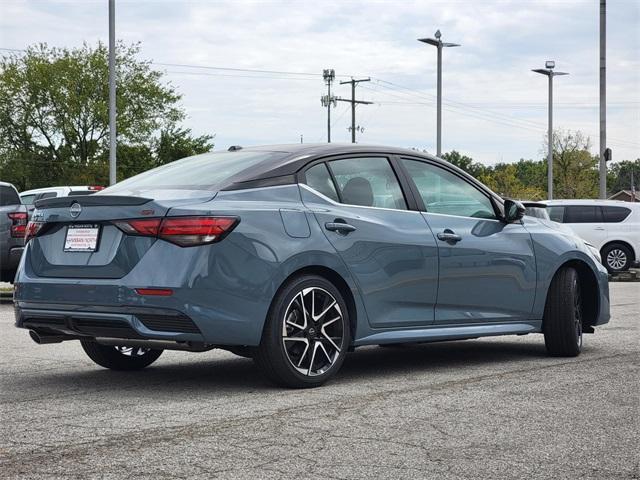
[[582, 299], [578, 272], [565, 267], [551, 281], [544, 308], [544, 344], [549, 355], [575, 357], [582, 350]]

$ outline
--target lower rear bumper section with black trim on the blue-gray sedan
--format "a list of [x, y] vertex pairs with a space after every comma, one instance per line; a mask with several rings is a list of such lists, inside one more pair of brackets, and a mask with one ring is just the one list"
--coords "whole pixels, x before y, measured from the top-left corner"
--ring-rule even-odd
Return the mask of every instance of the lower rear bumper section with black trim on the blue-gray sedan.
[[157, 308], [87, 307], [16, 302], [16, 327], [41, 335], [205, 343], [186, 315]]

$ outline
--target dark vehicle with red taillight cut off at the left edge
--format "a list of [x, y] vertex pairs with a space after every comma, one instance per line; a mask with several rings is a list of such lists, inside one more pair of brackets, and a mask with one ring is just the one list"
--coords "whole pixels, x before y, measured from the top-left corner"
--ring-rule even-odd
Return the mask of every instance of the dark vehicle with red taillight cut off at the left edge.
[[13, 185], [0, 182], [0, 281], [13, 282], [24, 250], [27, 208]]

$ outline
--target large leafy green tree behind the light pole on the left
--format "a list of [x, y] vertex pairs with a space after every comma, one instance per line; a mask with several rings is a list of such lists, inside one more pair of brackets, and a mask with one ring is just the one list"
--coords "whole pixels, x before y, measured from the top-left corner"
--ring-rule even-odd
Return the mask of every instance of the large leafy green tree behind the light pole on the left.
[[[116, 48], [117, 157], [124, 178], [213, 147], [179, 128], [181, 96], [140, 60]], [[108, 178], [108, 50], [46, 44], [0, 58], [0, 174], [21, 189]]]

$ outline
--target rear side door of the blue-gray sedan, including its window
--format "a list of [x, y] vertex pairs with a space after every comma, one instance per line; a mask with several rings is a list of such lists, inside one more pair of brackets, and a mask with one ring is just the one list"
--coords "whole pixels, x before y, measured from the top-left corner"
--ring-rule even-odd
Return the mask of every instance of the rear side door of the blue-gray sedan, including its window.
[[308, 168], [301, 194], [362, 295], [372, 327], [433, 322], [435, 238], [382, 156], [330, 160]]

